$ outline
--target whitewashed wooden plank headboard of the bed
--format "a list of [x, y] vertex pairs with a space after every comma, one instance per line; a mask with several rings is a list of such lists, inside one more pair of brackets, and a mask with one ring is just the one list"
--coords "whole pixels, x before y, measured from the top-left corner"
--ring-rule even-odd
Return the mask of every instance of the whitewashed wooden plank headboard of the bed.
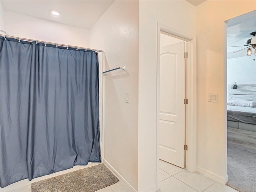
[[236, 84], [237, 89], [232, 89], [232, 85], [228, 85], [229, 100], [247, 100], [256, 101], [256, 84]]

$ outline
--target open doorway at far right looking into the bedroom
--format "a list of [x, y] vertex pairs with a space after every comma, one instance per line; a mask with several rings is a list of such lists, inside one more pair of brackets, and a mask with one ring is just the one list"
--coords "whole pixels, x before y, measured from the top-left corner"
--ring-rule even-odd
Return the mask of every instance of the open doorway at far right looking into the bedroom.
[[256, 10], [227, 22], [227, 185], [248, 192], [256, 188], [255, 17]]

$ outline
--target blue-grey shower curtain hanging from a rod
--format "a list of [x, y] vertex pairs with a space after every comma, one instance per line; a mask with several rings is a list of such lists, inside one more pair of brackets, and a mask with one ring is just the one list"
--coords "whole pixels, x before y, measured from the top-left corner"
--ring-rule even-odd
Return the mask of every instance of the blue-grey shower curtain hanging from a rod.
[[101, 162], [98, 54], [0, 37], [0, 186]]

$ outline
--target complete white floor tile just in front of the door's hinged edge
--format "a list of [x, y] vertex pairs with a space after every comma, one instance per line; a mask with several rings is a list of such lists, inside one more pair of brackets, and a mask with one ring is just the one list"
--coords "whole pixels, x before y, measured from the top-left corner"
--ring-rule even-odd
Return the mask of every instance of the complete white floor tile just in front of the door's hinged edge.
[[211, 180], [206, 176], [203, 176], [196, 172], [192, 173], [187, 170], [179, 172], [178, 174], [174, 175], [174, 177], [199, 192], [206, 190], [208, 187], [215, 183], [214, 180]]

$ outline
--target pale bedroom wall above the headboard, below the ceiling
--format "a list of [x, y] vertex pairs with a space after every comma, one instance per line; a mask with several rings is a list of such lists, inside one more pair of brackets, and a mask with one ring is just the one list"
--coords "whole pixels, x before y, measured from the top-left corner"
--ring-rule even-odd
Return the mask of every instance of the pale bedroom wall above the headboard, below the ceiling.
[[227, 61], [227, 84], [256, 84], [256, 61], [255, 56], [244, 56], [228, 59]]

